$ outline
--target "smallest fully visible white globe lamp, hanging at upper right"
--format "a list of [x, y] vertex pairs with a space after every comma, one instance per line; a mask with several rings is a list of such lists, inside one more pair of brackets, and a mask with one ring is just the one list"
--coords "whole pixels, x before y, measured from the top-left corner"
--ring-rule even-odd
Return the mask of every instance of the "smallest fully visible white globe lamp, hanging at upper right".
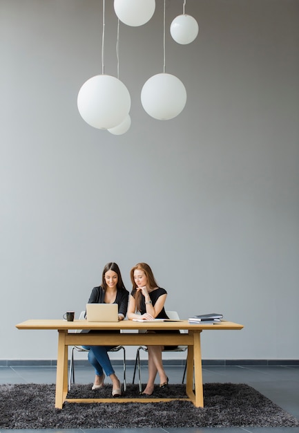
[[179, 15], [171, 23], [171, 36], [177, 44], [190, 44], [198, 35], [198, 24], [191, 15]]

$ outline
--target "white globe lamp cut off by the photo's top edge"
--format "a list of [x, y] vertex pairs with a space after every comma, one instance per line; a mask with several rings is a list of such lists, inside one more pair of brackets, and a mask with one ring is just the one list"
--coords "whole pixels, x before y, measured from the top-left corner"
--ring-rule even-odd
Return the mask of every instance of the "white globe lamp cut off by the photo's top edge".
[[155, 0], [114, 0], [114, 10], [127, 26], [142, 26], [153, 17]]

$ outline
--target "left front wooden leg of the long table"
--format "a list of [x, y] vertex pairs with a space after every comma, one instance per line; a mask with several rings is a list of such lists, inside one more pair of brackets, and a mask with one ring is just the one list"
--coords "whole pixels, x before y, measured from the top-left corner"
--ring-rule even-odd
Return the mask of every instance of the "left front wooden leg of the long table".
[[55, 407], [62, 409], [68, 394], [68, 346], [66, 331], [58, 331]]

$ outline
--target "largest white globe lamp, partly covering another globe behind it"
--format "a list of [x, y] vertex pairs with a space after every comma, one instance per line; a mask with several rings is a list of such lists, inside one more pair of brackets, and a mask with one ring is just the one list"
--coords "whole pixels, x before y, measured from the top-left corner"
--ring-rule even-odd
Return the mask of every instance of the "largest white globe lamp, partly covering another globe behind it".
[[95, 75], [78, 93], [77, 105], [88, 125], [109, 129], [119, 125], [131, 109], [131, 96], [120, 80], [110, 75]]

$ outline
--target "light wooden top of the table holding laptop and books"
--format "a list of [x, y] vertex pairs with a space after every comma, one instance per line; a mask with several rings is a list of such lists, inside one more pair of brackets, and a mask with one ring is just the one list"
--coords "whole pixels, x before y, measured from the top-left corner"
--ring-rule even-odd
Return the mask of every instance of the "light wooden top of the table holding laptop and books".
[[182, 329], [188, 331], [198, 330], [222, 330], [231, 329], [239, 330], [244, 326], [242, 324], [222, 320], [217, 324], [191, 324], [188, 320], [175, 322], [133, 322], [133, 320], [121, 320], [120, 322], [88, 322], [87, 320], [74, 320], [67, 322], [61, 319], [30, 319], [16, 325], [17, 329], [57, 329], [58, 331], [71, 331], [75, 329], [93, 329], [94, 331], [111, 331], [111, 330], [139, 330], [139, 329], [159, 329], [175, 330]]

